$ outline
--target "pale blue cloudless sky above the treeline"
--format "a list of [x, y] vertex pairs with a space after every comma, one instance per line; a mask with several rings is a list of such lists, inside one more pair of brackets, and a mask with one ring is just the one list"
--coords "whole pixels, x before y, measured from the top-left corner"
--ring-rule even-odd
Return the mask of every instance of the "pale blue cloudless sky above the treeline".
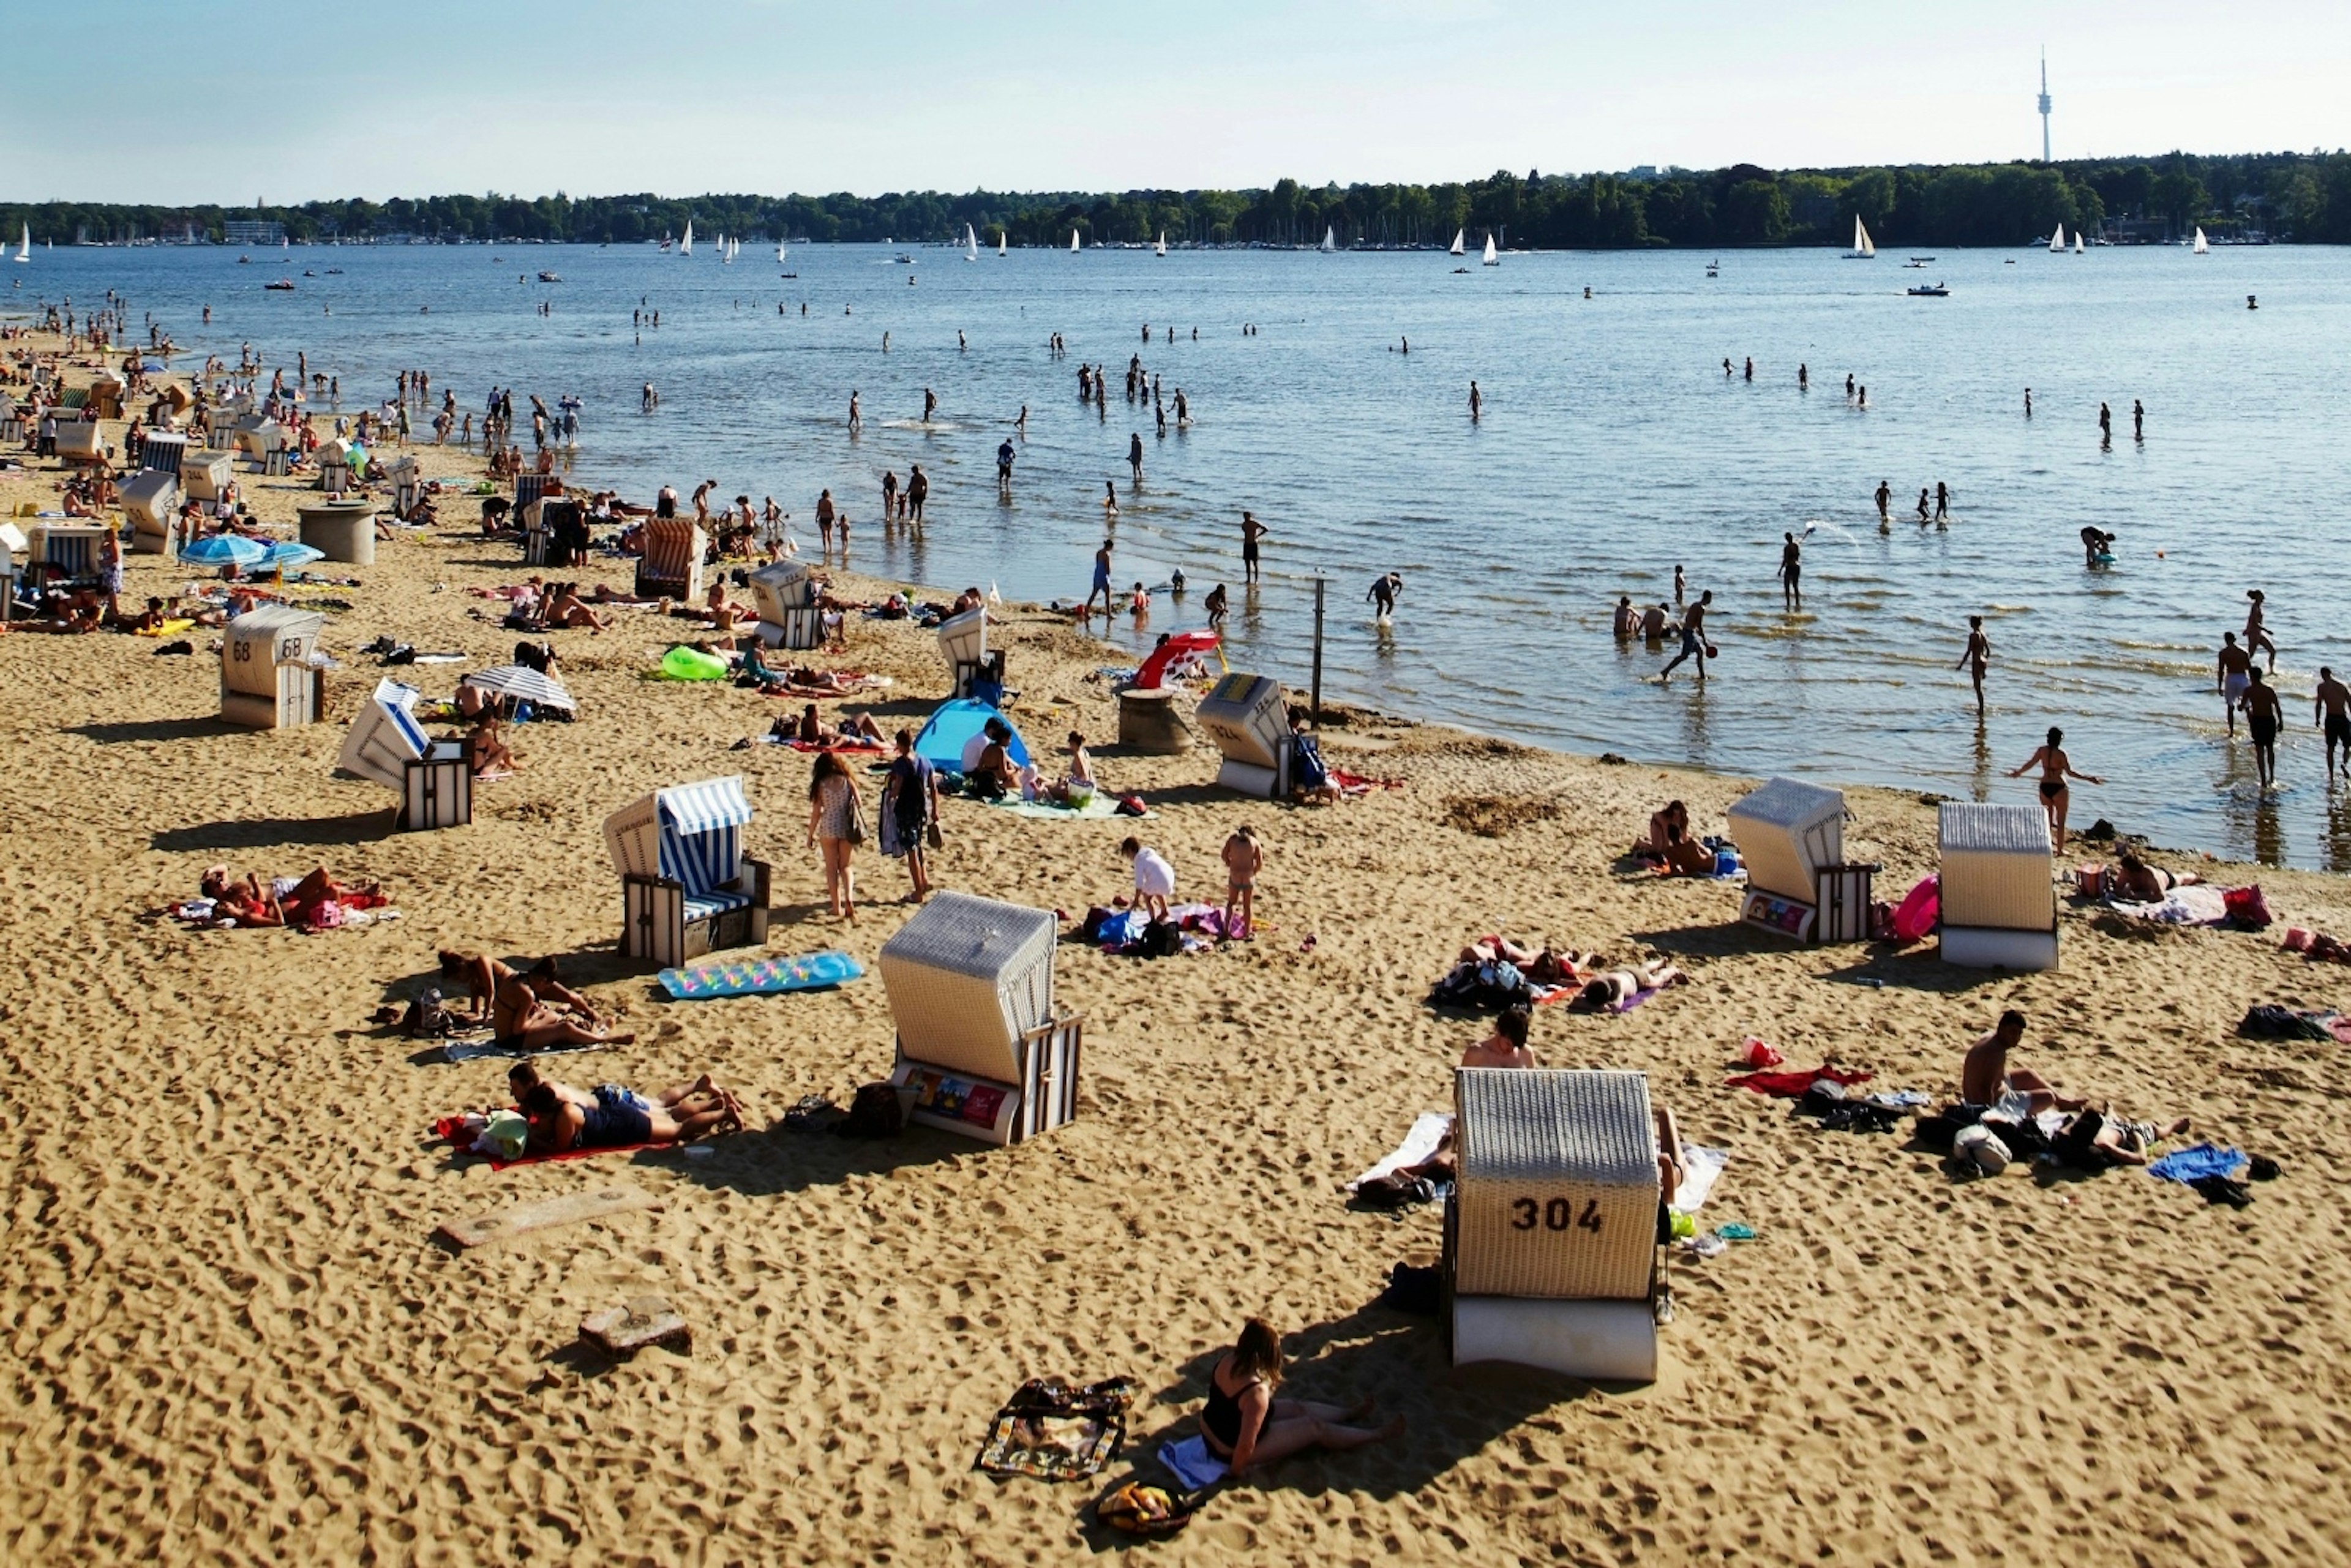
[[2339, 146], [2342, 0], [0, 5], [0, 195], [1110, 190]]

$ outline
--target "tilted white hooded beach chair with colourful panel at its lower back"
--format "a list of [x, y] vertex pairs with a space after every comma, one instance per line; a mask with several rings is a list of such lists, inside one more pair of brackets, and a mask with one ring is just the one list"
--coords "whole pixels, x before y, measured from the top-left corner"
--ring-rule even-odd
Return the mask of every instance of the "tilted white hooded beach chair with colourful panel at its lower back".
[[1084, 1018], [1053, 1016], [1058, 938], [1051, 910], [933, 893], [882, 943], [907, 1119], [1004, 1145], [1077, 1117]]

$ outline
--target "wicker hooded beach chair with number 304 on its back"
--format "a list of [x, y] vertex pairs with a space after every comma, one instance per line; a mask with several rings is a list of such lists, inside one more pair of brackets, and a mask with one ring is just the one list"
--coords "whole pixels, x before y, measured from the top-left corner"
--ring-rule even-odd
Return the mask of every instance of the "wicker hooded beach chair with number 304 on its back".
[[1653, 1380], [1665, 1274], [1648, 1074], [1462, 1067], [1453, 1084], [1444, 1284], [1455, 1366]]

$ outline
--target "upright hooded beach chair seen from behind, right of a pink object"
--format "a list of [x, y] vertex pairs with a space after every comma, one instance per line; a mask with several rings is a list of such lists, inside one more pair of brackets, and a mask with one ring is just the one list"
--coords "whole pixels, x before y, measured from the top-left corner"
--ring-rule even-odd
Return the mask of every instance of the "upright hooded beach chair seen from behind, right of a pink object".
[[2057, 886], [2041, 806], [1944, 802], [1942, 961], [1963, 969], [2057, 969]]

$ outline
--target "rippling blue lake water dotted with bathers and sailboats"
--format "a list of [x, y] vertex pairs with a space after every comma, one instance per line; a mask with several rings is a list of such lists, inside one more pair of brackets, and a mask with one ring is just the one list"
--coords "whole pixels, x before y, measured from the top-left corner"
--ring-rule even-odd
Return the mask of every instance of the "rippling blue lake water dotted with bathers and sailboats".
[[[1321, 574], [1331, 696], [1585, 752], [2017, 802], [2031, 783], [2005, 771], [2062, 724], [2074, 759], [2109, 780], [2076, 790], [2078, 825], [2106, 816], [2161, 844], [2351, 870], [2351, 788], [2325, 785], [2306, 698], [2320, 663], [2351, 670], [2351, 555], [2330, 543], [2351, 411], [2344, 252], [1944, 252], [1923, 270], [1730, 252], [1719, 277], [1704, 263], [1570, 252], [1472, 256], [1458, 275], [1434, 254], [966, 263], [792, 247], [778, 268], [748, 247], [731, 266], [708, 247], [315, 247], [237, 266], [219, 247], [59, 249], [12, 268], [24, 287], [0, 313], [113, 287], [134, 329], [150, 310], [183, 348], [235, 360], [252, 341], [289, 369], [308, 348], [346, 407], [388, 395], [400, 367], [475, 411], [491, 383], [517, 400], [576, 393], [578, 477], [639, 498], [703, 477], [722, 496], [776, 496], [809, 548], [830, 487], [856, 517], [858, 569], [940, 588], [1081, 597], [1114, 477], [1117, 583], [1190, 578], [1145, 632], [1121, 616], [1128, 646], [1197, 625], [1225, 581], [1234, 665], [1302, 689]], [[541, 268], [564, 282], [536, 282]], [[277, 275], [299, 289], [266, 294]], [[1918, 282], [1951, 294], [1907, 296]], [[639, 299], [663, 320], [642, 343]], [[1067, 357], [1046, 353], [1053, 331]], [[1159, 440], [1150, 407], [1124, 397], [1107, 418], [1079, 407], [1081, 360], [1117, 376], [1136, 353], [1171, 402], [1185, 390], [1190, 430], [1171, 416]], [[1754, 381], [1726, 378], [1726, 355], [1754, 357]], [[1867, 411], [1843, 397], [1848, 371]], [[663, 395], [654, 416], [637, 411], [644, 381]], [[860, 440], [844, 428], [851, 388]], [[940, 402], [931, 428], [924, 388]], [[2099, 400], [2116, 409], [2111, 447]], [[999, 501], [994, 447], [1023, 404]], [[1136, 430], [1145, 484], [1128, 494]], [[931, 524], [922, 543], [884, 541], [879, 475], [910, 463], [931, 475]], [[1895, 491], [1890, 534], [1878, 480]], [[1937, 480], [1951, 524], [1907, 522]], [[1241, 508], [1272, 529], [1255, 592], [1241, 590]], [[2111, 569], [2083, 567], [2083, 524], [2121, 536]], [[1780, 536], [1806, 529], [1806, 614], [1789, 616]], [[1693, 597], [1714, 590], [1721, 661], [1704, 686], [1660, 686], [1662, 656], [1608, 635], [1615, 597], [1669, 597], [1676, 562]], [[1389, 628], [1364, 604], [1380, 571], [1406, 578]], [[2271, 792], [2212, 691], [2212, 651], [2255, 585], [2292, 722]], [[1982, 722], [1951, 668], [1970, 614], [1996, 644]], [[1105, 663], [1128, 658], [1105, 649]]]

